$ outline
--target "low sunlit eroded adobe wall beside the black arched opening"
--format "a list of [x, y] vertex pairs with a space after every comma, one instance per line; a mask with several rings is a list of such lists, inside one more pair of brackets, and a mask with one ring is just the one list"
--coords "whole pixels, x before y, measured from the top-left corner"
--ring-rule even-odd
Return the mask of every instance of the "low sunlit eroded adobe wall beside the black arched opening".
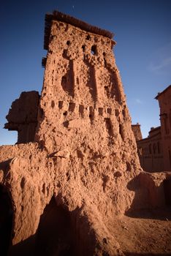
[[13, 208], [12, 244], [37, 231], [39, 217], [53, 196], [50, 162], [37, 143], [0, 147], [0, 183], [7, 188]]

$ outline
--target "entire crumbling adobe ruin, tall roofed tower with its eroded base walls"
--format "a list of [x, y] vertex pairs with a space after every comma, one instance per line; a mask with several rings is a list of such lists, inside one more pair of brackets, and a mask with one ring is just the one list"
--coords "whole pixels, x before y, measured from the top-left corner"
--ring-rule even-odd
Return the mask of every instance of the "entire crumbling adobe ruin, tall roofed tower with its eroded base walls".
[[19, 131], [18, 143], [0, 147], [9, 255], [123, 255], [109, 219], [164, 204], [159, 180], [140, 167], [112, 38], [46, 15], [40, 99], [32, 91], [12, 104], [5, 127]]

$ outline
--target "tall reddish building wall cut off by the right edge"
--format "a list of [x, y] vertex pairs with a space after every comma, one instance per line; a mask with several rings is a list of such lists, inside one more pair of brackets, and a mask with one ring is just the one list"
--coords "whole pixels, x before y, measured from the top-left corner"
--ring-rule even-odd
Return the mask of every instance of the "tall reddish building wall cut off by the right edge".
[[164, 169], [171, 170], [171, 86], [157, 95], [160, 107], [161, 137], [164, 150]]

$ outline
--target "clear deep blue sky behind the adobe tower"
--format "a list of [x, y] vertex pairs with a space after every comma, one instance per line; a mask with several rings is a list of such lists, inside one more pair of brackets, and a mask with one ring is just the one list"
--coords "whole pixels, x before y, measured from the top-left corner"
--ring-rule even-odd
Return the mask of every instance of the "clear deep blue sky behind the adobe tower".
[[171, 84], [171, 1], [8, 1], [0, 7], [0, 144], [13, 144], [17, 132], [4, 127], [5, 116], [21, 91], [41, 91], [45, 13], [60, 10], [113, 31], [132, 124], [145, 138], [159, 126], [156, 94]]

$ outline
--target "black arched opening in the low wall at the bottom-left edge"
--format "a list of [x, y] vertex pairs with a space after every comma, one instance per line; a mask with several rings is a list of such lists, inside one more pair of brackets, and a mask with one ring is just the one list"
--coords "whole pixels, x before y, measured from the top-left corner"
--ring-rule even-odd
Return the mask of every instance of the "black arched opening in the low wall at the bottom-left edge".
[[12, 202], [7, 189], [0, 185], [0, 255], [6, 256], [12, 235]]

